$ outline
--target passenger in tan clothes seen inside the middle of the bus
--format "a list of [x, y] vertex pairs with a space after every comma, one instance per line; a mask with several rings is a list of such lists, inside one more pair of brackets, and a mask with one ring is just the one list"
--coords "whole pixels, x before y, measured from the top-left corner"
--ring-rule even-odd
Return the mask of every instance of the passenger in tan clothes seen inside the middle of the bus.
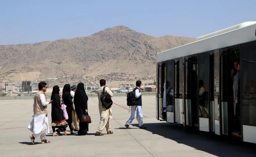
[[206, 91], [204, 89], [203, 80], [199, 80], [199, 117], [208, 118], [208, 109], [205, 105]]

